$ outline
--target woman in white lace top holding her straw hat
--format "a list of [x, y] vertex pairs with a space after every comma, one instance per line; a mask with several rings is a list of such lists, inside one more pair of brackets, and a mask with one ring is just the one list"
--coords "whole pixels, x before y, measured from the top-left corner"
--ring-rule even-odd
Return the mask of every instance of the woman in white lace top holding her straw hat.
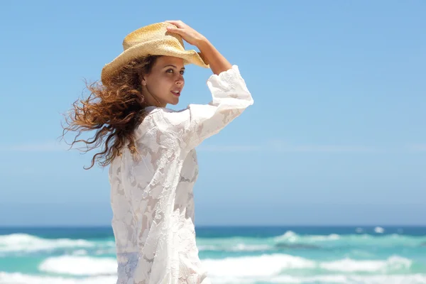
[[[185, 50], [182, 39], [200, 53]], [[238, 67], [182, 21], [140, 28], [123, 45], [104, 66], [102, 84], [88, 86], [91, 96], [75, 102], [65, 128], [79, 135], [96, 130], [92, 140], [78, 140], [89, 150], [103, 143], [90, 168], [95, 160], [110, 165], [117, 283], [210, 283], [195, 243], [195, 147], [253, 99]], [[190, 63], [212, 69], [212, 102], [165, 108], [178, 104]]]

